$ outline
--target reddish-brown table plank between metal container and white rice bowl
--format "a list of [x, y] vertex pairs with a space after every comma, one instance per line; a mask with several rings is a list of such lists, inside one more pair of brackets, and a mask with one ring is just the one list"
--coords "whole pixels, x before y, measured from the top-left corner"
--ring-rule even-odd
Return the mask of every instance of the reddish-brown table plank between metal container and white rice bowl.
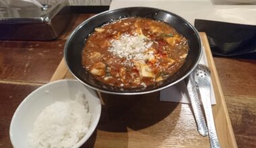
[[0, 79], [47, 83], [62, 59], [64, 44], [65, 40], [0, 41]]

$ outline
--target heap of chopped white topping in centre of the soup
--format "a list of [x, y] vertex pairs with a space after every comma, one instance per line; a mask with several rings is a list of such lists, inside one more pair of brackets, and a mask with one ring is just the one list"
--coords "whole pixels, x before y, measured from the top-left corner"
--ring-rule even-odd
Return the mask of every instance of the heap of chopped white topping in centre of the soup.
[[133, 59], [135, 61], [146, 61], [154, 59], [154, 52], [148, 51], [153, 42], [146, 42], [148, 38], [143, 35], [122, 34], [117, 40], [110, 40], [109, 52], [119, 58]]

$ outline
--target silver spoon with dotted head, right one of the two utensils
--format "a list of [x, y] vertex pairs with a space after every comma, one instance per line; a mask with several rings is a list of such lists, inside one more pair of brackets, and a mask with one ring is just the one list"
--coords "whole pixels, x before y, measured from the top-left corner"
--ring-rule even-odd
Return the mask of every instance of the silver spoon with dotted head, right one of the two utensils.
[[195, 68], [195, 82], [197, 83], [201, 94], [201, 102], [203, 103], [203, 109], [205, 111], [211, 147], [220, 147], [216, 128], [214, 125], [214, 116], [212, 115], [212, 104], [210, 98], [210, 69], [205, 65], [197, 65], [197, 67]]

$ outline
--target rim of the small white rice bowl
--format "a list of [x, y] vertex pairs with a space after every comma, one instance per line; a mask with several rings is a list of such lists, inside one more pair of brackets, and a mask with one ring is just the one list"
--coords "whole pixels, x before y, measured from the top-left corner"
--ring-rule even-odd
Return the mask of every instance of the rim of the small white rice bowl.
[[[26, 98], [24, 98], [24, 100], [22, 100], [22, 102], [19, 104], [18, 108], [16, 108], [16, 110], [15, 110], [15, 112], [14, 112], [12, 118], [11, 118], [11, 123], [10, 123], [10, 126], [9, 126], [9, 138], [11, 140], [11, 145], [13, 145], [13, 147], [18, 147], [19, 146], [19, 145], [16, 145], [15, 140], [13, 139], [13, 126], [14, 126], [14, 120], [15, 120], [16, 116], [18, 116], [17, 114], [21, 110], [22, 106], [24, 106], [24, 104], [26, 104], [26, 102], [28, 102], [28, 99], [31, 98], [31, 96], [33, 96], [34, 94], [38, 93], [37, 92], [38, 90], [44, 89], [45, 87], [48, 87], [49, 85], [55, 85], [56, 83], [65, 83], [65, 82], [67, 82], [67, 83], [71, 82], [71, 83], [82, 84], [79, 81], [77, 81], [76, 79], [61, 79], [61, 80], [49, 82], [49, 83], [46, 83], [45, 85], [42, 85], [42, 86], [38, 87], [37, 89], [34, 89], [34, 91], [32, 91], [28, 96], [26, 96]], [[88, 89], [88, 87], [86, 87], [86, 89]], [[91, 88], [89, 88], [89, 89], [91, 89]], [[93, 89], [93, 91], [94, 91], [94, 89]], [[96, 94], [96, 92], [95, 92], [95, 94]], [[96, 94], [96, 96], [98, 96], [98, 95]], [[99, 99], [98, 100], [99, 104], [98, 104], [97, 108], [98, 108], [98, 112], [99, 113], [96, 114], [96, 117], [95, 117], [95, 122], [96, 122], [95, 126], [92, 126], [92, 122], [91, 122], [90, 126], [92, 126], [92, 128], [89, 128], [91, 130], [88, 131], [88, 133], [86, 133], [86, 135], [84, 135], [84, 137], [82, 139], [80, 139], [77, 143], [75, 143], [75, 145], [73, 145], [73, 147], [81, 147], [84, 143], [86, 143], [86, 141], [94, 133], [94, 131], [95, 131], [97, 125], [98, 125], [98, 122], [100, 120], [101, 111], [102, 111], [102, 106], [101, 106], [101, 103], [100, 103], [100, 98], [98, 98], [98, 99]]]

